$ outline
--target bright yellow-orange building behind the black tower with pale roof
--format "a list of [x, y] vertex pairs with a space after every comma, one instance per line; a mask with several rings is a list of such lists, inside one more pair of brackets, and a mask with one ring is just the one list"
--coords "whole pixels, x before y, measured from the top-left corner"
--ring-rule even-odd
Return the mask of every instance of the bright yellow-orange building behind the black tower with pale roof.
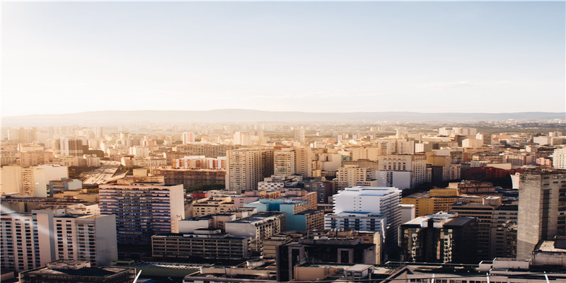
[[414, 204], [415, 215], [424, 216], [437, 212], [446, 212], [459, 199], [456, 188], [436, 188], [428, 192], [415, 192], [412, 195], [403, 197], [401, 203]]

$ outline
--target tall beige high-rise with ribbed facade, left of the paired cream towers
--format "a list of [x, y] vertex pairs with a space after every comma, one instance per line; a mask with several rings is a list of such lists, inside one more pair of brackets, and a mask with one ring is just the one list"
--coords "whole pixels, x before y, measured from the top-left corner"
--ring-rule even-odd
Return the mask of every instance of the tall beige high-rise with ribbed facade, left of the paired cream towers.
[[257, 190], [258, 182], [273, 175], [273, 149], [235, 149], [227, 156], [227, 190]]

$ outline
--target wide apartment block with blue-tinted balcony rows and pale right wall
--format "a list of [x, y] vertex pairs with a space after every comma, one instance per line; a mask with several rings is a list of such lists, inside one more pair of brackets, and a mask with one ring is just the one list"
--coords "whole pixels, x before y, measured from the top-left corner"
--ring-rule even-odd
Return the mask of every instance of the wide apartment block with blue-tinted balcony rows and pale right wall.
[[149, 245], [156, 233], [177, 233], [185, 218], [182, 185], [100, 185], [100, 213], [116, 214], [118, 243]]

